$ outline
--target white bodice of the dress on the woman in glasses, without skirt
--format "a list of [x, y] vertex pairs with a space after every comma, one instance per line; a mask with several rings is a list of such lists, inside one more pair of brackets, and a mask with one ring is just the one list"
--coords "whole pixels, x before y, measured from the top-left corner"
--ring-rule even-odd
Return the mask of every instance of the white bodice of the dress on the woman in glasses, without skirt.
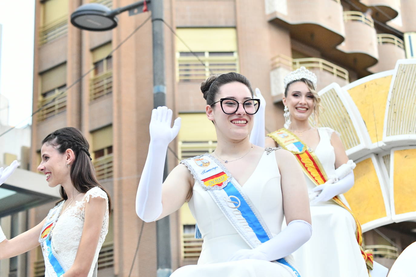
[[[280, 233], [283, 221], [282, 190], [274, 152], [269, 155], [266, 152], [262, 154], [256, 169], [241, 190], [257, 208], [272, 235]], [[197, 181], [188, 204], [203, 238], [198, 265], [224, 262], [229, 260], [235, 251], [250, 249], [210, 194], [202, 189]]]

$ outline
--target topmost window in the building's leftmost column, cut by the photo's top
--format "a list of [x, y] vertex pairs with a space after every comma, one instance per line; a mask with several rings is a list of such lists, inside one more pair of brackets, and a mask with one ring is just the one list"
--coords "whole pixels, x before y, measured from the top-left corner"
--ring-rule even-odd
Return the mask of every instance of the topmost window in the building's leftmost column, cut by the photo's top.
[[42, 1], [39, 29], [40, 45], [67, 34], [68, 7], [68, 0]]

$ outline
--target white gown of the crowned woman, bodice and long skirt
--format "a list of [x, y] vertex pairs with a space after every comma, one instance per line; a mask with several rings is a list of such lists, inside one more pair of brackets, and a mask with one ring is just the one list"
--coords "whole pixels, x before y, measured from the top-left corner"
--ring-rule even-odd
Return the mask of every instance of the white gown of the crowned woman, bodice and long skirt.
[[[335, 174], [334, 130], [318, 128], [320, 141], [314, 151], [328, 176]], [[308, 190], [316, 185], [305, 176]], [[311, 205], [312, 237], [293, 253], [302, 277], [368, 277], [355, 238], [351, 214], [332, 200]]]

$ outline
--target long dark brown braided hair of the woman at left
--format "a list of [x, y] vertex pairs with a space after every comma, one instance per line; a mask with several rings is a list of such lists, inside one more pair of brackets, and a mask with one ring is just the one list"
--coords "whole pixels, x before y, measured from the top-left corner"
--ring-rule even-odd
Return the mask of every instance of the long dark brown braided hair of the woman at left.
[[[95, 176], [94, 166], [91, 162], [91, 155], [88, 148], [89, 143], [85, 139], [84, 135], [74, 127], [64, 127], [58, 129], [42, 140], [42, 145], [47, 143], [55, 147], [59, 153], [63, 154], [67, 149], [74, 151], [75, 160], [71, 166], [70, 177], [75, 189], [81, 193], [86, 193], [95, 186], [106, 192], [108, 196], [109, 211], [111, 211], [111, 198], [106, 189], [99, 184], [97, 177]], [[64, 188], [60, 189], [62, 199], [57, 202], [67, 200], [68, 196], [65, 193]]]

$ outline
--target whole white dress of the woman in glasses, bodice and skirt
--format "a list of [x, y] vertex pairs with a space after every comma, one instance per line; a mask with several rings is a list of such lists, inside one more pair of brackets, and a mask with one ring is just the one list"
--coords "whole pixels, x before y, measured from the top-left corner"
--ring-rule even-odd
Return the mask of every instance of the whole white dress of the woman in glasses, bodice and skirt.
[[[273, 236], [281, 231], [283, 221], [280, 172], [274, 152], [262, 155], [255, 171], [243, 185], [245, 193], [261, 214]], [[228, 262], [240, 249], [250, 249], [211, 196], [197, 182], [188, 203], [203, 245], [198, 265], [181, 267], [171, 277], [292, 277], [292, 272], [281, 265], [265, 260], [245, 259]], [[291, 256], [287, 257], [294, 265]], [[302, 272], [300, 272], [302, 274]]]

